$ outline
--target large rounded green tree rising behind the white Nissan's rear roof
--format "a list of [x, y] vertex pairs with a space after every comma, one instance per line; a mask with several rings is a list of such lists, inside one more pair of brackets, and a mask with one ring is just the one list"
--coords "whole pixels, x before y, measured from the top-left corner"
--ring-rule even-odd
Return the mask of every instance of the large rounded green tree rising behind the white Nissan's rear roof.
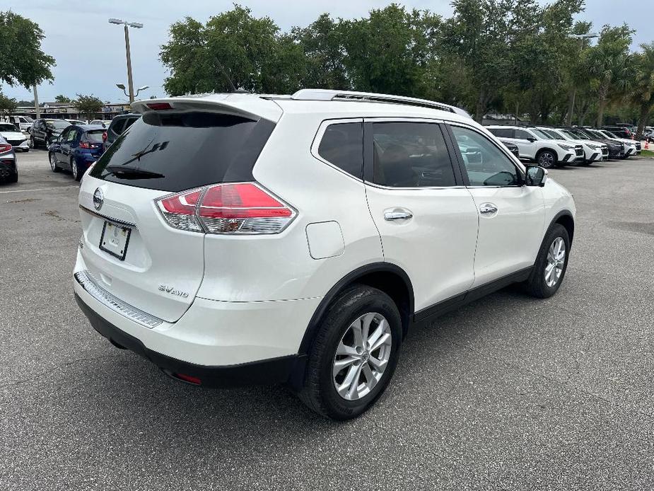
[[305, 61], [302, 48], [269, 17], [252, 17], [238, 4], [206, 25], [190, 17], [171, 25], [160, 59], [170, 69], [164, 88], [172, 95], [295, 90]]

